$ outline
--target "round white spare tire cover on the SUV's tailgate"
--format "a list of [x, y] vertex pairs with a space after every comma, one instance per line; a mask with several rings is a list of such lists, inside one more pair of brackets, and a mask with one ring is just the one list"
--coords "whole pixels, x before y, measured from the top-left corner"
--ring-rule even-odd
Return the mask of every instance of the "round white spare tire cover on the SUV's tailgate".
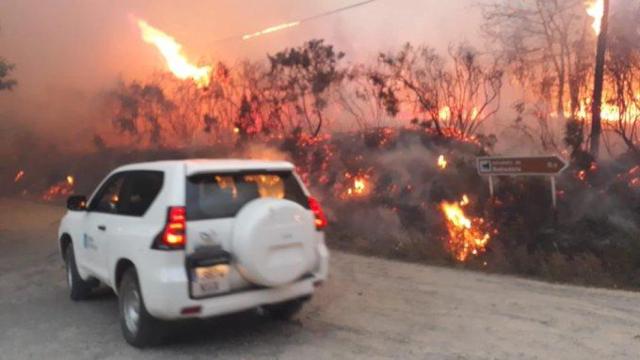
[[297, 280], [316, 264], [313, 214], [283, 199], [247, 203], [233, 225], [232, 253], [250, 282], [278, 286]]

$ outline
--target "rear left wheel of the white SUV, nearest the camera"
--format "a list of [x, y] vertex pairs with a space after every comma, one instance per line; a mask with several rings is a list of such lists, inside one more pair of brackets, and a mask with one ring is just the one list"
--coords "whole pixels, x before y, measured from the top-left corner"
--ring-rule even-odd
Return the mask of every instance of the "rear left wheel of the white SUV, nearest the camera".
[[118, 288], [120, 328], [124, 339], [134, 347], [144, 348], [162, 342], [163, 324], [144, 305], [135, 268], [127, 269]]

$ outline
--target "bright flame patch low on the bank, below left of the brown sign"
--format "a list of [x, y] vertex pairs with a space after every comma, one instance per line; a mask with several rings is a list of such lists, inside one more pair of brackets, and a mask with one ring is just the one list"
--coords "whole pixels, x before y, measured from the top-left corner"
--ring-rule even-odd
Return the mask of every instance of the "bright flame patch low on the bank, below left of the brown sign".
[[447, 250], [458, 261], [466, 261], [469, 256], [484, 252], [491, 239], [489, 232], [485, 231], [487, 226], [484, 219], [465, 214], [463, 208], [469, 203], [467, 195], [463, 195], [459, 202], [440, 203], [449, 233]]

